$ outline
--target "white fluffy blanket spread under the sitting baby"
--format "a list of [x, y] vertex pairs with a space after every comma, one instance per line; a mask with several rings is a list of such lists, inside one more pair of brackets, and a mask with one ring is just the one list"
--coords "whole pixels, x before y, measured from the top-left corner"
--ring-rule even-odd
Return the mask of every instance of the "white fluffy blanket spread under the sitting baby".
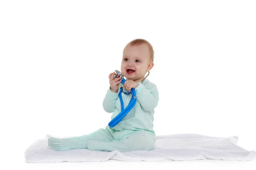
[[249, 161], [256, 152], [237, 145], [238, 137], [227, 138], [199, 134], [174, 134], [156, 136], [154, 150], [112, 152], [87, 149], [56, 151], [47, 146], [47, 139], [35, 141], [25, 151], [26, 162], [79, 162], [79, 161], [190, 161], [198, 159], [219, 159], [229, 161]]

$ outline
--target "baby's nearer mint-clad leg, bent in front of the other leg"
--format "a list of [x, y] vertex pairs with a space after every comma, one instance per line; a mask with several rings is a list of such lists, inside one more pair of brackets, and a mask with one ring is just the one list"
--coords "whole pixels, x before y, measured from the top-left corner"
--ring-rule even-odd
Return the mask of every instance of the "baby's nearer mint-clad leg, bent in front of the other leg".
[[[121, 133], [121, 132], [120, 132]], [[88, 140], [87, 148], [89, 150], [129, 152], [133, 150], [153, 150], [155, 139], [148, 133], [132, 133], [128, 138], [120, 141], [102, 142]]]

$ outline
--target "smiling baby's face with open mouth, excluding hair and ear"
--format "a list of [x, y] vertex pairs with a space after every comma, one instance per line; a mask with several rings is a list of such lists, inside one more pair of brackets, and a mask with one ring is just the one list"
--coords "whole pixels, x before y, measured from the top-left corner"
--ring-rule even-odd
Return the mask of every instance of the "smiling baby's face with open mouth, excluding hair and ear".
[[121, 73], [127, 80], [142, 81], [148, 71], [149, 56], [150, 54], [145, 44], [138, 46], [126, 45], [123, 50]]

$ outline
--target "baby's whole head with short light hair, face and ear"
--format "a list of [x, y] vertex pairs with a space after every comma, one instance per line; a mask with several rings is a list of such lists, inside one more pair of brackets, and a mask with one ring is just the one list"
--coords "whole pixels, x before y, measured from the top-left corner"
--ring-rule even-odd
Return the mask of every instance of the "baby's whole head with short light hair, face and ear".
[[[141, 82], [145, 74], [154, 66], [154, 50], [144, 39], [129, 42], [124, 50], [121, 63], [121, 73], [134, 82]], [[131, 71], [133, 70], [133, 71]]]

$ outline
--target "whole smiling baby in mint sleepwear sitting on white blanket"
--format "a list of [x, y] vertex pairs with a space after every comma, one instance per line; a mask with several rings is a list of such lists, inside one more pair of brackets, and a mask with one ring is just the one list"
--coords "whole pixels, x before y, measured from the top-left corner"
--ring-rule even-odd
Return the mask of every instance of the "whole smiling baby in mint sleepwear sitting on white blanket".
[[[93, 133], [71, 138], [49, 138], [48, 146], [55, 150], [89, 149], [99, 151], [128, 152], [133, 150], [153, 150], [155, 133], [153, 130], [154, 108], [159, 101], [154, 83], [144, 79], [145, 74], [154, 66], [154, 51], [151, 44], [144, 39], [129, 42], [124, 50], [121, 73], [126, 77], [124, 85], [121, 77], [114, 78], [109, 74], [110, 87], [103, 100], [103, 108], [113, 113], [111, 119], [121, 112], [119, 99], [120, 88], [123, 88], [124, 108], [131, 100], [131, 88], [135, 89], [137, 102], [134, 108], [114, 127], [108, 125]], [[143, 81], [143, 84], [141, 83]], [[122, 87], [123, 86], [123, 87]]]

